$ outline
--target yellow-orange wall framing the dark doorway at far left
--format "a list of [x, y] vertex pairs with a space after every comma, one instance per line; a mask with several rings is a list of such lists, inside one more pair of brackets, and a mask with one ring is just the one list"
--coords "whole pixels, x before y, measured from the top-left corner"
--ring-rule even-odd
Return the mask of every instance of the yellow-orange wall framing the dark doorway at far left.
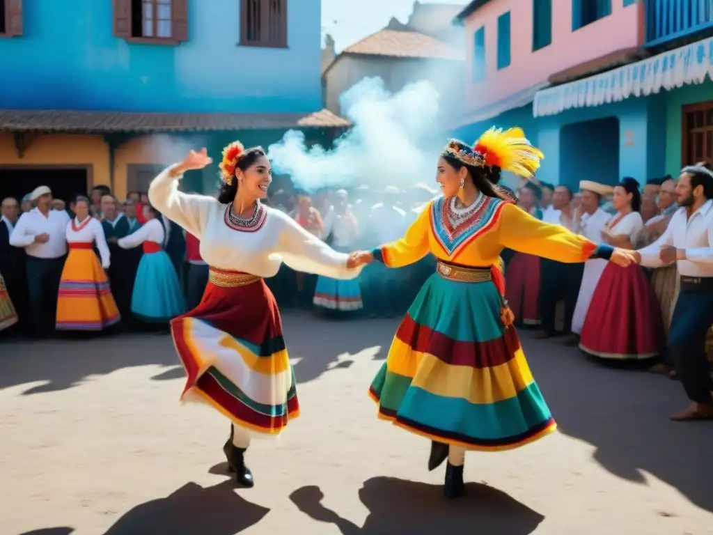
[[23, 158], [18, 158], [12, 134], [0, 132], [0, 165], [86, 165], [88, 189], [109, 183], [109, 148], [102, 136], [57, 134], [30, 140]]

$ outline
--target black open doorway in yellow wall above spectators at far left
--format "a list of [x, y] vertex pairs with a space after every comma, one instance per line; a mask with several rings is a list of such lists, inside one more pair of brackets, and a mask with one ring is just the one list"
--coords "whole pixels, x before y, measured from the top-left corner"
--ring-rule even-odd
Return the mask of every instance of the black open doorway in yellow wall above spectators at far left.
[[2, 167], [0, 166], [0, 199], [14, 197], [18, 202], [39, 185], [52, 190], [54, 198], [67, 205], [77, 195], [87, 195], [89, 189], [87, 167]]

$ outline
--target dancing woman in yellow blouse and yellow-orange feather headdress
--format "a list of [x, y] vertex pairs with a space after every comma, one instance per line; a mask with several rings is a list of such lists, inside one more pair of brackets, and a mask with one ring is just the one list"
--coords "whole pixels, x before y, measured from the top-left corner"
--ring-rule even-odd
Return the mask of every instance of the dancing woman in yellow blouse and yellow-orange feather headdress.
[[593, 256], [621, 265], [632, 261], [631, 253], [597, 247], [498, 195], [491, 177], [500, 168], [532, 175], [541, 157], [519, 128], [491, 129], [473, 148], [451, 141], [438, 160], [443, 197], [431, 201], [404, 238], [356, 253], [356, 265], [375, 259], [400, 267], [429, 250], [438, 258], [369, 394], [381, 419], [431, 438], [429, 469], [448, 458], [448, 497], [463, 491], [466, 449], [511, 449], [555, 430], [511, 327], [495, 267], [501, 250], [568, 263]]

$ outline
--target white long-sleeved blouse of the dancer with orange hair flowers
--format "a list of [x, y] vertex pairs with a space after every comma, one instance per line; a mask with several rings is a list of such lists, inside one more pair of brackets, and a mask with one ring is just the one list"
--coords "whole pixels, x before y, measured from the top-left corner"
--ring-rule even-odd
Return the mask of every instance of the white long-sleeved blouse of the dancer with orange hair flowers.
[[170, 220], [200, 240], [200, 255], [208, 265], [273, 277], [280, 263], [297, 271], [334, 279], [353, 279], [361, 267], [347, 268], [347, 255], [337, 253], [319, 238], [300, 227], [289, 215], [262, 205], [255, 225], [231, 225], [230, 205], [205, 195], [188, 195], [178, 190], [171, 168], [153, 179], [148, 198]]

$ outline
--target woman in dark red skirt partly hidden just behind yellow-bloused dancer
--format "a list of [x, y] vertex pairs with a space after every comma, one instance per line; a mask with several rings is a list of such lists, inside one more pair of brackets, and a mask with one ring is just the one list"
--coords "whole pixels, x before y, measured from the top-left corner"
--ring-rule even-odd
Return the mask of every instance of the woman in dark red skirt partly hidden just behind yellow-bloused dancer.
[[[518, 205], [534, 218], [542, 219], [538, 208], [542, 190], [528, 181], [520, 188]], [[540, 323], [540, 258], [525, 253], [515, 253], [505, 272], [508, 282], [506, 298], [515, 314], [515, 324], [538, 325]]]

